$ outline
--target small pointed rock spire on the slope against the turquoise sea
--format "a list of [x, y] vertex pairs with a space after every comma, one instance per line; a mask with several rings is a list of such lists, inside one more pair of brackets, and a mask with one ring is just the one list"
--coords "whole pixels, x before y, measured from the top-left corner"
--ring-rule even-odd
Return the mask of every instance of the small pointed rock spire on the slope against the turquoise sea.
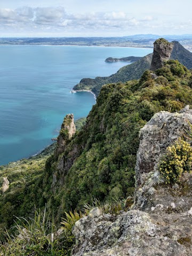
[[61, 130], [57, 138], [57, 148], [55, 150], [55, 157], [58, 157], [65, 150], [66, 143], [75, 134], [76, 127], [74, 124], [74, 115], [68, 114], [63, 119]]

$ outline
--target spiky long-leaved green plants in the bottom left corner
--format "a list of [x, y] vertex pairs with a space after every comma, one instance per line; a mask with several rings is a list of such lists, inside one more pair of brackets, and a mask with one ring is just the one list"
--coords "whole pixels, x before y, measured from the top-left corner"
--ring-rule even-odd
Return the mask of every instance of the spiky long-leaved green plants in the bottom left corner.
[[66, 237], [57, 231], [53, 218], [35, 212], [35, 217], [29, 220], [17, 218], [14, 235], [8, 232], [7, 241], [0, 246], [0, 255], [41, 256], [60, 255], [67, 256], [70, 246], [65, 246]]

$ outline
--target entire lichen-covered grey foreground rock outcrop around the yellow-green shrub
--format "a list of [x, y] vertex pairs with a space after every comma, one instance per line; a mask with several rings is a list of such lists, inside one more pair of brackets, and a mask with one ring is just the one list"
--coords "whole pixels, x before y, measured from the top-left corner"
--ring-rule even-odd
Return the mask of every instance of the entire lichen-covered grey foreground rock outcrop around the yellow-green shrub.
[[157, 113], [141, 129], [132, 210], [119, 215], [93, 209], [75, 223], [73, 256], [190, 256], [192, 175], [166, 185], [157, 165], [166, 147], [191, 129], [192, 110]]

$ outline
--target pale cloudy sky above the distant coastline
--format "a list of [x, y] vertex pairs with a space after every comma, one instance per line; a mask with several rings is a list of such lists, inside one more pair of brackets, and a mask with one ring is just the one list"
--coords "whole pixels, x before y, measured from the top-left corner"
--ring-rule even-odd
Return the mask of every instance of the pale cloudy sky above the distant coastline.
[[191, 0], [0, 0], [0, 37], [192, 34]]

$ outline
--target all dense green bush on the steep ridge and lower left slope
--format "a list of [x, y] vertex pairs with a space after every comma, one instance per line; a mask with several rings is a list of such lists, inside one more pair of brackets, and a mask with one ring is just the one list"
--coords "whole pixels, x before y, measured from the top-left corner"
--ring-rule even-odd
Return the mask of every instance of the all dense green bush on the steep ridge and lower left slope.
[[1, 193], [1, 231], [13, 225], [14, 215], [33, 215], [34, 205], [43, 209], [47, 204], [59, 223], [65, 211], [82, 209], [94, 198], [106, 203], [133, 194], [141, 127], [158, 111], [192, 105], [186, 67], [171, 60], [155, 73], [147, 70], [138, 81], [103, 86], [86, 124], [59, 159], [47, 159], [51, 151], [1, 167], [1, 177], [10, 181]]

